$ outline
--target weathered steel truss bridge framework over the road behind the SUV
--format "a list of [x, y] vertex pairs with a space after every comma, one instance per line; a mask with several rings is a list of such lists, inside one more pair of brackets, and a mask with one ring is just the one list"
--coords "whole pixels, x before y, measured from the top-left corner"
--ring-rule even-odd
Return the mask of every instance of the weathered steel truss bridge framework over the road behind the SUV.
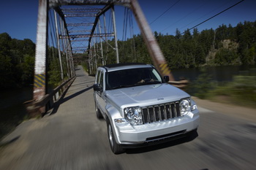
[[[86, 60], [89, 72], [94, 72], [98, 61], [105, 65], [108, 59], [108, 53], [104, 53], [104, 50], [113, 49], [116, 63], [119, 63], [116, 6], [124, 6], [131, 11], [154, 66], [162, 75], [169, 75], [173, 80], [137, 0], [39, 0], [34, 98], [26, 102], [32, 115], [47, 112], [49, 101], [54, 103], [61, 96], [75, 78], [75, 62], [78, 59]], [[110, 39], [114, 42], [112, 45]], [[102, 42], [107, 47], [102, 47]], [[80, 55], [86, 55], [86, 58]], [[59, 74], [63, 83], [49, 94], [48, 61], [53, 59], [59, 60]]]

